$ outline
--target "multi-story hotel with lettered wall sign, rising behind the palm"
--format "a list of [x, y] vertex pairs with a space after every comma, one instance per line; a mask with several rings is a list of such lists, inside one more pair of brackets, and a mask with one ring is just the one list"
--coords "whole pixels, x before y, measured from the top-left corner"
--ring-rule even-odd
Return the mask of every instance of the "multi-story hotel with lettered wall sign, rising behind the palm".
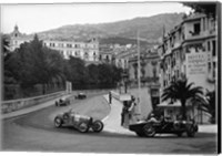
[[[204, 91], [215, 90], [216, 33], [215, 18], [194, 13], [163, 37], [158, 49], [161, 55], [160, 95], [171, 82], [181, 77]], [[201, 118], [206, 122], [208, 117], [203, 116]]]

